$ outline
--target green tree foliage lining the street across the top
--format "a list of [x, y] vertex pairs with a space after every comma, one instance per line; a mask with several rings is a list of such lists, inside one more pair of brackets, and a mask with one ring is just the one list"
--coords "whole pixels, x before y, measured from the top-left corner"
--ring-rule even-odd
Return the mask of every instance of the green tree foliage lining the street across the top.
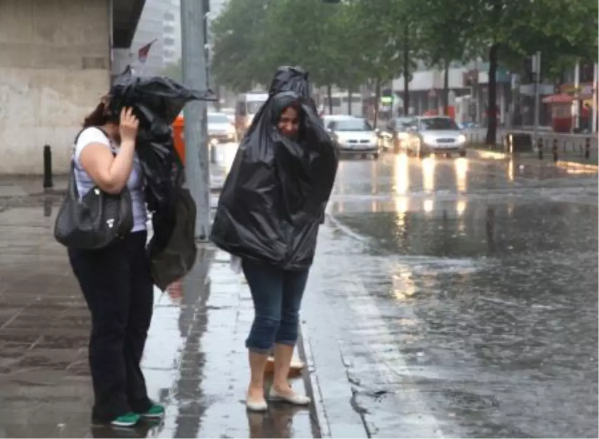
[[351, 89], [402, 74], [407, 85], [416, 59], [447, 70], [481, 56], [494, 144], [498, 65], [519, 71], [540, 50], [545, 76], [556, 77], [578, 57], [597, 59], [598, 13], [599, 0], [229, 0], [211, 29], [212, 72], [241, 91], [301, 65], [316, 84]]

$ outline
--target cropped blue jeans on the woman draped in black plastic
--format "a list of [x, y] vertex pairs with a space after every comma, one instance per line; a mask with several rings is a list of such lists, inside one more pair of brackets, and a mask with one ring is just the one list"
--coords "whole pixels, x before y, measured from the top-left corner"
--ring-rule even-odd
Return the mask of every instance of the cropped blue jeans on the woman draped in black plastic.
[[246, 340], [247, 349], [268, 353], [274, 343], [295, 346], [299, 306], [308, 270], [286, 271], [244, 259], [243, 274], [250, 286], [255, 317]]

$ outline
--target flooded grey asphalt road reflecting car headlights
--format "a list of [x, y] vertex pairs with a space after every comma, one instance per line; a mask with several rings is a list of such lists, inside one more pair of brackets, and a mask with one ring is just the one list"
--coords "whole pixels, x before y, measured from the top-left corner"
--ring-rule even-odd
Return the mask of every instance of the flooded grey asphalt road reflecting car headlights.
[[533, 160], [343, 161], [302, 314], [332, 437], [597, 437], [598, 195]]

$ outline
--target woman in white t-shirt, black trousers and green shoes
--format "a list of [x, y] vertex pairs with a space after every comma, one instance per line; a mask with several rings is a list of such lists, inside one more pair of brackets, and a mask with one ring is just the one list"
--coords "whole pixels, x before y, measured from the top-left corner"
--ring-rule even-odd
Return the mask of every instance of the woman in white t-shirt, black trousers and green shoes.
[[146, 254], [143, 175], [135, 154], [139, 122], [131, 108], [108, 110], [108, 98], [84, 120], [73, 160], [80, 196], [94, 186], [131, 192], [134, 226], [100, 250], [68, 249], [69, 261], [92, 314], [89, 365], [95, 402], [92, 421], [134, 426], [164, 407], [148, 396], [140, 368], [152, 319], [153, 281]]

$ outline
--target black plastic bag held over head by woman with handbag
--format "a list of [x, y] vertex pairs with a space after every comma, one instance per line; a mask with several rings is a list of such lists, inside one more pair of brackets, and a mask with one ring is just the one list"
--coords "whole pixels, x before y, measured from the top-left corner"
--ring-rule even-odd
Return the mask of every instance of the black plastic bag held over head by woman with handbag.
[[[164, 263], [167, 260], [164, 255], [169, 252], [167, 246], [181, 241], [180, 237], [177, 240], [171, 240], [171, 237], [179, 220], [177, 212], [181, 211], [181, 191], [186, 191], [182, 187], [184, 168], [174, 147], [171, 125], [187, 102], [199, 99], [214, 100], [214, 93], [187, 89], [167, 77], [137, 77], [130, 71], [117, 77], [110, 89], [111, 114], [117, 116], [123, 107], [131, 107], [140, 120], [135, 152], [146, 184], [146, 202], [152, 212], [153, 235], [148, 252], [155, 273], [162, 270], [171, 276], [173, 273], [185, 274], [191, 268], [188, 266], [190, 256], [195, 256], [193, 227], [179, 225], [179, 229], [186, 233], [192, 230], [187, 249], [189, 257], [171, 258], [169, 267]], [[195, 226], [195, 210], [186, 216], [186, 222]], [[180, 251], [180, 246], [178, 248]]]

